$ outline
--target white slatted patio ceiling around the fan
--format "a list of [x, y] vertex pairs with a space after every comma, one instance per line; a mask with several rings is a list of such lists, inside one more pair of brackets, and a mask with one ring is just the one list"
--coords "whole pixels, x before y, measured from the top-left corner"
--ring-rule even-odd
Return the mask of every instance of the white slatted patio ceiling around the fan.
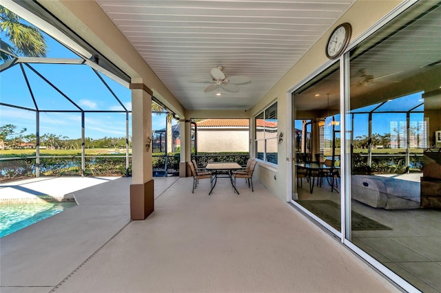
[[[96, 2], [185, 109], [218, 110], [253, 107], [355, 1]], [[205, 93], [217, 66], [252, 82]]]

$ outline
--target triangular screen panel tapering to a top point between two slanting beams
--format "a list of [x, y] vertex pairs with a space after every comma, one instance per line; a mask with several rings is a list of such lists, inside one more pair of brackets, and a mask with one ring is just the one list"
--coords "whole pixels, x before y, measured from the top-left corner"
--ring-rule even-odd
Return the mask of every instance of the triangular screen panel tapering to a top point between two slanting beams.
[[30, 88], [34, 94], [37, 107], [41, 111], [79, 111], [63, 94], [54, 89], [49, 83], [46, 83], [41, 76], [32, 71], [27, 66], [23, 66], [26, 76], [29, 80]]

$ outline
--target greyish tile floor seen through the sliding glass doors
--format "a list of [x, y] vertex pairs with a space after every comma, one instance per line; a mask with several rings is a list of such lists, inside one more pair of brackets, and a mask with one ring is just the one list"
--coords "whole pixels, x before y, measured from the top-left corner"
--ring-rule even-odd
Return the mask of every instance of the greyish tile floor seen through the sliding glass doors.
[[[305, 182], [299, 188], [299, 199], [340, 203], [340, 194], [330, 193], [326, 182], [322, 188], [316, 186], [313, 194]], [[392, 229], [353, 231], [352, 242], [356, 246], [422, 292], [441, 292], [440, 210], [385, 210], [356, 200], [352, 201], [352, 209]]]

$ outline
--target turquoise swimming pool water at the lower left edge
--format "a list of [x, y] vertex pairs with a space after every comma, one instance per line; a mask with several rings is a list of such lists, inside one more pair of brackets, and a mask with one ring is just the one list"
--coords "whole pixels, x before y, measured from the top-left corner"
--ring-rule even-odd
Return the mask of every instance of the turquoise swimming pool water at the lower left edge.
[[0, 237], [47, 219], [76, 206], [75, 202], [0, 205]]

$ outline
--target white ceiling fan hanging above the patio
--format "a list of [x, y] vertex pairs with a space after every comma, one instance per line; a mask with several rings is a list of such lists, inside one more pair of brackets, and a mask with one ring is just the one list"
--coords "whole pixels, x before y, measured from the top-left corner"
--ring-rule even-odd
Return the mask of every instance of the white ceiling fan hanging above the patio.
[[212, 83], [205, 87], [204, 91], [207, 93], [209, 91], [218, 90], [216, 96], [220, 96], [219, 87], [225, 89], [225, 91], [229, 91], [230, 93], [237, 93], [239, 91], [239, 87], [237, 85], [242, 85], [244, 83], [250, 83], [251, 79], [247, 76], [226, 76], [223, 73], [223, 67], [218, 66], [211, 70], [210, 72], [212, 79], [211, 80], [189, 80], [192, 83]]

